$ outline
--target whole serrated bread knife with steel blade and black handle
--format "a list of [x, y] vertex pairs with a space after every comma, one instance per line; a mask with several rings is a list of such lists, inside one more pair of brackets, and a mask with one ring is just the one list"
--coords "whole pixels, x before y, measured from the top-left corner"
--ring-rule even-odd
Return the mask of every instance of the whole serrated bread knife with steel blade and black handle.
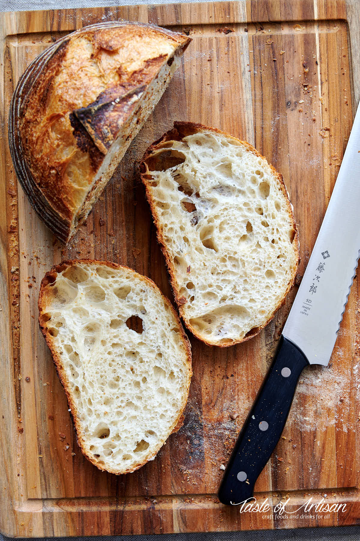
[[360, 106], [313, 252], [273, 363], [242, 427], [220, 484], [220, 502], [253, 496], [280, 439], [305, 366], [328, 365], [360, 249]]

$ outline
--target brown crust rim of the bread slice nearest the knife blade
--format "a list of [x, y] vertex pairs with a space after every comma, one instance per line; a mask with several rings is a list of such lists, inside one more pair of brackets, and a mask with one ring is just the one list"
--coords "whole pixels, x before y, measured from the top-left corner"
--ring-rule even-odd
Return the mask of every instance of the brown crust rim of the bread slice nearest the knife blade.
[[183, 299], [180, 296], [178, 282], [175, 279], [173, 263], [172, 263], [170, 254], [168, 252], [167, 246], [166, 246], [166, 242], [165, 242], [165, 239], [164, 239], [164, 234], [162, 232], [162, 227], [161, 227], [161, 223], [160, 223], [160, 220], [159, 220], [159, 214], [158, 214], [157, 208], [156, 208], [156, 206], [154, 204], [154, 201], [153, 201], [153, 198], [152, 198], [152, 195], [151, 195], [150, 180], [148, 179], [148, 177], [151, 176], [151, 173], [149, 173], [147, 164], [148, 164], [148, 161], [151, 159], [153, 152], [155, 150], [158, 150], [159, 148], [161, 148], [162, 145], [164, 143], [166, 143], [167, 141], [181, 141], [183, 137], [186, 137], [187, 135], [192, 135], [192, 134], [198, 133], [199, 131], [203, 131], [203, 130], [213, 131], [214, 133], [225, 135], [227, 138], [233, 139], [237, 143], [240, 142], [249, 151], [251, 151], [253, 154], [255, 154], [255, 156], [260, 157], [263, 160], [266, 160], [266, 158], [264, 156], [262, 156], [259, 153], [259, 151], [257, 151], [256, 148], [254, 148], [250, 143], [248, 143], [247, 141], [241, 141], [237, 137], [234, 137], [232, 135], [229, 135], [229, 134], [225, 133], [225, 131], [221, 131], [221, 130], [216, 129], [216, 128], [209, 128], [207, 126], [203, 126], [203, 124], [196, 124], [196, 123], [193, 123], [193, 122], [174, 122], [174, 127], [171, 130], [168, 130], [164, 135], [162, 135], [162, 137], [160, 137], [157, 141], [152, 143], [150, 145], [150, 147], [148, 147], [146, 149], [145, 154], [142, 157], [142, 160], [140, 162], [140, 177], [141, 177], [142, 183], [145, 186], [146, 198], [147, 198], [148, 203], [150, 204], [150, 208], [151, 208], [151, 212], [152, 212], [152, 216], [153, 216], [153, 221], [154, 221], [154, 224], [155, 224], [156, 229], [157, 229], [157, 239], [158, 239], [161, 251], [164, 254], [164, 258], [165, 258], [168, 273], [169, 273], [169, 279], [170, 279], [171, 287], [172, 287], [172, 290], [173, 290], [173, 293], [174, 293], [174, 299], [175, 299], [176, 304], [178, 305], [178, 310], [179, 310], [179, 313], [181, 315], [181, 319], [184, 321], [184, 323], [185, 323], [186, 327], [189, 329], [189, 331], [191, 331], [192, 334], [194, 334], [194, 336], [196, 338], [198, 338], [202, 342], [205, 342], [205, 344], [207, 344], [208, 346], [214, 346], [215, 345], [215, 346], [219, 346], [219, 347], [229, 347], [229, 346], [233, 346], [235, 344], [241, 344], [241, 342], [245, 342], [245, 341], [249, 340], [250, 338], [253, 338], [257, 334], [259, 334], [260, 331], [262, 331], [262, 329], [264, 327], [266, 327], [266, 325], [268, 325], [268, 323], [271, 321], [271, 319], [274, 318], [274, 315], [277, 312], [277, 310], [279, 310], [279, 308], [281, 306], [283, 306], [291, 287], [293, 287], [293, 285], [294, 285], [298, 263], [300, 262], [300, 244], [299, 244], [299, 236], [298, 236], [298, 230], [297, 230], [296, 223], [295, 223], [295, 216], [294, 216], [293, 208], [291, 207], [291, 203], [289, 201], [289, 195], [288, 195], [288, 191], [286, 189], [285, 183], [283, 181], [283, 177], [269, 163], [269, 167], [270, 167], [272, 173], [276, 176], [277, 180], [279, 180], [281, 191], [282, 191], [282, 193], [284, 195], [284, 199], [286, 200], [287, 209], [288, 209], [288, 213], [289, 213], [290, 220], [291, 220], [291, 225], [292, 225], [292, 227], [293, 227], [293, 229], [295, 231], [295, 235], [294, 235], [295, 267], [294, 267], [294, 272], [293, 272], [293, 278], [290, 281], [290, 283], [289, 283], [289, 285], [288, 285], [288, 287], [286, 289], [286, 292], [284, 293], [282, 299], [279, 301], [279, 303], [277, 304], [277, 306], [275, 307], [273, 313], [271, 313], [271, 315], [267, 319], [267, 321], [261, 327], [257, 327], [256, 331], [254, 329], [252, 329], [252, 331], [247, 333], [244, 336], [244, 338], [239, 339], [239, 340], [233, 340], [231, 342], [231, 344], [227, 344], [227, 343], [224, 344], [223, 342], [220, 342], [220, 341], [218, 341], [218, 342], [213, 342], [213, 341], [210, 342], [210, 341], [208, 341], [206, 339], [206, 337], [204, 337], [202, 334], [200, 334], [198, 331], [196, 331], [196, 329], [191, 325], [191, 323], [189, 322], [189, 319], [185, 315], [184, 302], [182, 302]]

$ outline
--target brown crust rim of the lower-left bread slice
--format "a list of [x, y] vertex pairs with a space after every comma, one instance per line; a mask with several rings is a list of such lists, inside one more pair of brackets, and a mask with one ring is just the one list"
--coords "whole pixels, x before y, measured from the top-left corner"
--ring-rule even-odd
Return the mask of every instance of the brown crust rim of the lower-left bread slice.
[[[126, 470], [118, 470], [117, 471], [117, 470], [105, 468], [103, 465], [98, 464], [97, 461], [94, 459], [94, 457], [91, 456], [87, 452], [86, 446], [84, 444], [83, 431], [81, 431], [81, 423], [80, 423], [80, 420], [79, 420], [78, 410], [77, 410], [76, 405], [74, 404], [74, 401], [72, 399], [72, 395], [71, 395], [71, 393], [69, 391], [69, 382], [67, 380], [66, 374], [65, 374], [64, 370], [62, 370], [62, 368], [61, 368], [61, 362], [62, 362], [61, 357], [58, 354], [58, 352], [56, 351], [56, 347], [53, 344], [52, 337], [51, 337], [50, 333], [47, 331], [47, 328], [44, 325], [44, 321], [42, 320], [42, 315], [44, 314], [44, 311], [46, 309], [45, 286], [47, 286], [49, 283], [52, 283], [53, 281], [55, 281], [56, 276], [57, 276], [58, 273], [64, 271], [66, 268], [69, 268], [69, 267], [71, 267], [73, 265], [81, 265], [81, 263], [92, 264], [92, 265], [97, 265], [97, 266], [106, 266], [106, 267], [110, 267], [110, 268], [113, 268], [113, 269], [126, 269], [126, 271], [131, 272], [134, 275], [136, 275], [138, 279], [144, 281], [147, 286], [151, 287], [152, 289], [154, 289], [155, 291], [160, 293], [160, 295], [162, 296], [162, 299], [165, 301], [165, 304], [170, 308], [170, 310], [171, 310], [171, 312], [172, 312], [172, 314], [173, 314], [173, 316], [175, 318], [175, 321], [179, 325], [179, 331], [181, 333], [182, 342], [183, 342], [184, 347], [185, 347], [186, 365], [188, 367], [188, 378], [187, 378], [186, 392], [184, 393], [184, 397], [183, 397], [183, 400], [182, 400], [182, 406], [181, 406], [181, 408], [179, 408], [178, 415], [177, 415], [176, 419], [174, 420], [171, 428], [169, 429], [167, 437], [163, 441], [160, 441], [160, 443], [155, 448], [154, 452], [149, 454], [146, 457], [146, 459], [141, 461], [141, 463], [135, 465], [134, 467], [128, 468]], [[160, 291], [158, 286], [150, 278], [147, 278], [147, 276], [143, 276], [143, 275], [135, 272], [133, 269], [131, 269], [129, 267], [126, 267], [124, 265], [118, 265], [117, 263], [113, 263], [113, 262], [110, 262], [110, 261], [97, 261], [97, 260], [93, 260], [93, 259], [66, 260], [66, 261], [63, 261], [63, 262], [59, 263], [59, 265], [54, 265], [50, 269], [50, 271], [48, 271], [45, 274], [44, 278], [42, 279], [42, 281], [40, 283], [38, 308], [39, 308], [38, 321], [39, 321], [40, 331], [44, 335], [46, 344], [50, 349], [50, 352], [51, 352], [51, 355], [52, 355], [52, 360], [53, 360], [53, 363], [55, 365], [59, 380], [60, 380], [62, 386], [64, 387], [64, 391], [65, 391], [66, 398], [67, 398], [67, 403], [69, 404], [70, 414], [71, 414], [73, 424], [74, 424], [74, 428], [75, 428], [75, 431], [76, 431], [77, 443], [78, 443], [78, 446], [81, 449], [81, 452], [99, 470], [108, 471], [110, 473], [115, 473], [117, 475], [121, 475], [123, 473], [131, 473], [131, 472], [133, 472], [135, 470], [138, 470], [141, 466], [144, 466], [144, 464], [146, 464], [149, 460], [152, 460], [157, 455], [157, 453], [159, 452], [162, 445], [164, 445], [166, 439], [170, 436], [170, 434], [172, 434], [174, 432], [177, 432], [179, 430], [179, 428], [181, 428], [181, 426], [184, 424], [184, 410], [185, 410], [185, 406], [186, 406], [186, 403], [187, 403], [187, 398], [188, 398], [188, 393], [189, 393], [189, 388], [190, 388], [190, 383], [191, 383], [191, 377], [192, 377], [192, 354], [191, 354], [191, 346], [190, 346], [189, 339], [187, 338], [187, 335], [185, 334], [184, 328], [181, 325], [181, 321], [180, 321], [178, 313], [175, 311], [174, 307], [172, 306], [171, 302], [167, 299], [167, 297], [164, 294], [162, 294], [162, 292]]]

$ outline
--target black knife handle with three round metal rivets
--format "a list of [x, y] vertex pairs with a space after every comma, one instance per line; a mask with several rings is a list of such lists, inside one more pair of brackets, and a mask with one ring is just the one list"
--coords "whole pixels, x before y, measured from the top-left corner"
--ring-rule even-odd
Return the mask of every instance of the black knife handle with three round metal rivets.
[[309, 362], [282, 335], [273, 363], [237, 438], [219, 487], [226, 505], [252, 498], [256, 479], [269, 460], [285, 426], [297, 380]]

